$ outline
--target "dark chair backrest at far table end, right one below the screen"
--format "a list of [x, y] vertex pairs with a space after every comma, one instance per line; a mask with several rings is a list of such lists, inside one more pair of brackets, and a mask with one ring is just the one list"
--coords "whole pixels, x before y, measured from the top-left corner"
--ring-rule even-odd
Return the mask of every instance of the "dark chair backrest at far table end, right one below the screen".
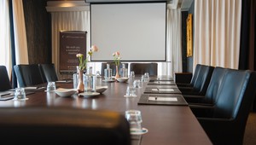
[[135, 75], [149, 73], [149, 76], [157, 76], [157, 63], [131, 63], [130, 71]]

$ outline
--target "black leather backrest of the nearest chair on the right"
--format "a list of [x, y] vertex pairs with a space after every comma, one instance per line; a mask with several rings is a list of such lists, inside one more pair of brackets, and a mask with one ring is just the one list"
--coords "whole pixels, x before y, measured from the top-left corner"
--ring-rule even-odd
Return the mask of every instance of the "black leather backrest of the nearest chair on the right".
[[243, 103], [247, 102], [246, 100], [252, 100], [255, 96], [255, 90], [255, 73], [248, 70], [228, 69], [218, 91], [213, 117], [236, 119], [238, 113], [241, 112], [241, 105], [250, 106], [249, 104], [252, 104], [251, 102]]

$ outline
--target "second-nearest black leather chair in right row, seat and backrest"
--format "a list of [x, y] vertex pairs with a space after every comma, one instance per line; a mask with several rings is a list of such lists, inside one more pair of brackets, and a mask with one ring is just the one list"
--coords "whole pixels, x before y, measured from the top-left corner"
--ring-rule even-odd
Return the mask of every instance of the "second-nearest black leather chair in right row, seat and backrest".
[[207, 92], [205, 96], [189, 96], [183, 95], [186, 102], [197, 105], [214, 105], [217, 100], [217, 93], [221, 86], [222, 80], [225, 73], [227, 73], [227, 68], [215, 67], [212, 73], [211, 81], [208, 85]]

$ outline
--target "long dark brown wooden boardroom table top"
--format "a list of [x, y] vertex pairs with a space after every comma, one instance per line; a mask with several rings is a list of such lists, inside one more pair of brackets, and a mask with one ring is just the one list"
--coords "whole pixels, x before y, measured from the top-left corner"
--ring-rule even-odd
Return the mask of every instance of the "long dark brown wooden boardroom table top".
[[[129, 109], [137, 109], [142, 112], [142, 125], [148, 129], [148, 133], [140, 136], [139, 141], [133, 144], [212, 144], [188, 106], [137, 105], [146, 84], [137, 89], [137, 97], [124, 97], [127, 83], [113, 82], [102, 85], [108, 85], [108, 90], [99, 96], [61, 97], [55, 92], [39, 90], [26, 96], [26, 101], [2, 101], [0, 107], [80, 107], [107, 109], [122, 114]], [[57, 83], [56, 86], [73, 88], [73, 83]]]

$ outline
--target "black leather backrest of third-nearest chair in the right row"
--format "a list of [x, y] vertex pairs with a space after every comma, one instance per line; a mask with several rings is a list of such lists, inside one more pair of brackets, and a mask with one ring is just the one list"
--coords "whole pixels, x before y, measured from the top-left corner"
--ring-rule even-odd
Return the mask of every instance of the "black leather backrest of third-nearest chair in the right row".
[[196, 78], [195, 84], [193, 86], [194, 90], [199, 92], [200, 95], [206, 94], [208, 85], [212, 78], [213, 70], [214, 67], [212, 66], [201, 65], [198, 77]]

